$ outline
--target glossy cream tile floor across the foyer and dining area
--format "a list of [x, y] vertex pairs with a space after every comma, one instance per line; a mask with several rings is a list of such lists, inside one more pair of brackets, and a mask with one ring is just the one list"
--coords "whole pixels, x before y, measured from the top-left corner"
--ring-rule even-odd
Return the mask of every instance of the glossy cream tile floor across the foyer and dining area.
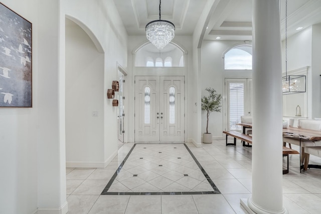
[[[68, 213], [247, 213], [240, 198], [251, 193], [251, 148], [239, 141], [235, 147], [226, 147], [225, 140], [202, 148], [186, 143], [221, 192], [203, 194], [214, 191], [213, 186], [184, 144], [136, 144], [119, 170], [133, 145], [119, 144], [118, 155], [104, 169], [66, 169]], [[321, 213], [321, 169], [299, 173], [299, 155], [289, 159], [289, 173], [283, 175], [284, 206], [289, 213]], [[321, 158], [310, 156], [310, 163], [321, 165]], [[188, 194], [177, 194], [182, 191]]]

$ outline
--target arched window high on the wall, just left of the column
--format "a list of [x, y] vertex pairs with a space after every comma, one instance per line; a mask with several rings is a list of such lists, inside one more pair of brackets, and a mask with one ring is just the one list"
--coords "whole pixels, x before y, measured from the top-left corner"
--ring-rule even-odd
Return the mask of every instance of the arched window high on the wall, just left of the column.
[[252, 70], [252, 46], [237, 46], [224, 56], [225, 70]]

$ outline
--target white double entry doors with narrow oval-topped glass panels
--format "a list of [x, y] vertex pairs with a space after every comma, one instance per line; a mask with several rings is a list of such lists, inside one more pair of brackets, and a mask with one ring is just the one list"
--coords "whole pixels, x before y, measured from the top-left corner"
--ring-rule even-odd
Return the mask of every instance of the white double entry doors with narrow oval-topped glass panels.
[[135, 142], [183, 142], [183, 76], [135, 77]]

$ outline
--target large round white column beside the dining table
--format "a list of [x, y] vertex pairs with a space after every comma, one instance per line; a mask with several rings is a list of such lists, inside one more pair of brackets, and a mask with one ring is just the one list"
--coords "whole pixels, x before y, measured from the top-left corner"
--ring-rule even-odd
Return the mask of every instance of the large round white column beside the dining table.
[[252, 196], [250, 213], [288, 213], [282, 200], [282, 68], [279, 0], [253, 0]]

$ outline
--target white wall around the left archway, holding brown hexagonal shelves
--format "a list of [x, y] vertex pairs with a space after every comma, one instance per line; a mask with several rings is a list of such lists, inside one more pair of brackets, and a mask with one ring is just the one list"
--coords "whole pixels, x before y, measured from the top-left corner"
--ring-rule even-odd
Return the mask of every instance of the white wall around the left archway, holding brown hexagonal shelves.
[[117, 63], [124, 69], [127, 67], [127, 33], [111, 0], [69, 0], [65, 4], [68, 17], [86, 26], [89, 30], [84, 29], [86, 33], [93, 41], [97, 40], [104, 52], [104, 86], [100, 97], [103, 111], [99, 115], [103, 117], [103, 161], [106, 165], [118, 150], [117, 108], [112, 106], [106, 93], [112, 81], [117, 80]]

